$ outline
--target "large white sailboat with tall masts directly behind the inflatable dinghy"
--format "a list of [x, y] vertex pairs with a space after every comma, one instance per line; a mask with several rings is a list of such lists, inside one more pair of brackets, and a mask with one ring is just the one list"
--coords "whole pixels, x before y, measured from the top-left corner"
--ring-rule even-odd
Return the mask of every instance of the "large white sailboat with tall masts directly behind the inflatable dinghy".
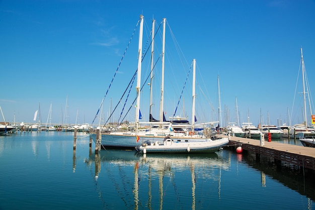
[[[137, 97], [136, 97], [136, 111], [135, 111], [135, 123], [134, 130], [124, 130], [124, 131], [108, 131], [107, 133], [102, 134], [101, 144], [103, 148], [107, 149], [135, 149], [136, 146], [141, 145], [144, 142], [155, 142], [159, 141], [163, 143], [166, 136], [170, 136], [173, 139], [187, 141], [206, 141], [205, 137], [200, 138], [198, 135], [189, 135], [188, 132], [175, 132], [174, 128], [176, 125], [173, 125], [171, 122], [163, 122], [163, 78], [162, 78], [162, 90], [161, 90], [161, 101], [160, 101], [160, 121], [159, 122], [150, 122], [152, 125], [159, 126], [158, 128], [152, 129], [142, 129], [139, 123], [140, 117], [140, 79], [141, 79], [141, 59], [142, 59], [142, 27], [143, 27], [143, 16], [140, 16], [140, 35], [138, 43], [138, 68], [137, 68]], [[166, 19], [163, 19], [163, 36], [165, 36], [165, 22]], [[165, 37], [163, 37], [163, 42]], [[164, 46], [164, 44], [163, 44]], [[164, 50], [164, 47], [163, 47]], [[164, 69], [164, 51], [162, 52], [162, 69]], [[163, 72], [163, 70], [162, 70]], [[163, 76], [162, 76], [163, 77]], [[151, 102], [150, 102], [151, 104]], [[194, 109], [193, 109], [194, 110]], [[194, 116], [194, 114], [193, 114]], [[130, 125], [129, 125], [130, 126]]]

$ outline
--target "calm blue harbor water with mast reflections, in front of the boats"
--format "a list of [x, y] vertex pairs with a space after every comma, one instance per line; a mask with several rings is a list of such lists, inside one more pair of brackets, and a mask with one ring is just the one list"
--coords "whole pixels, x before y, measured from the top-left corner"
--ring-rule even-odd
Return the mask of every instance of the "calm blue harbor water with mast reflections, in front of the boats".
[[[0, 137], [0, 209], [313, 209], [311, 180], [251, 154], [135, 155], [71, 132]], [[255, 155], [254, 155], [255, 156]]]

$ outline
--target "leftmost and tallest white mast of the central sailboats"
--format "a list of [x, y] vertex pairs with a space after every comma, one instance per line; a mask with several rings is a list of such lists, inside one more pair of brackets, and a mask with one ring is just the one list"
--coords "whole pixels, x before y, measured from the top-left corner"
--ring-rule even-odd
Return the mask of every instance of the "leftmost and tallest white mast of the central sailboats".
[[136, 135], [139, 128], [139, 112], [140, 112], [140, 85], [141, 85], [141, 59], [142, 59], [142, 34], [143, 34], [143, 16], [140, 15], [140, 30], [139, 30], [139, 47], [138, 47], [138, 72], [137, 72], [137, 103], [136, 103]]

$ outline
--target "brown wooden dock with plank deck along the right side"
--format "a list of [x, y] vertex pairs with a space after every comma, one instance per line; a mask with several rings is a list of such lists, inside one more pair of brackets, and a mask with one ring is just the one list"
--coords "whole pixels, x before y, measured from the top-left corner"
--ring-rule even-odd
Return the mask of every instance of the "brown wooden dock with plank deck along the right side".
[[[225, 136], [226, 137], [226, 136]], [[274, 158], [275, 161], [284, 161], [303, 169], [311, 169], [315, 171], [315, 148], [303, 147], [299, 145], [283, 144], [279, 142], [271, 142], [264, 140], [264, 146], [257, 139], [248, 139], [241, 137], [230, 137], [229, 145], [239, 147], [256, 153], [256, 157], [260, 155]]]

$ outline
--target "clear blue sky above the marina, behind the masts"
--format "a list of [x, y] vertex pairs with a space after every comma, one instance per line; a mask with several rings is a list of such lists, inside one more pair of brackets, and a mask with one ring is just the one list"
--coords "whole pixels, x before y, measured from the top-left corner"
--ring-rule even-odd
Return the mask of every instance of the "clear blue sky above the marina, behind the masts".
[[[294, 94], [302, 92], [301, 83], [296, 86], [301, 47], [308, 79], [315, 78], [314, 11], [315, 2], [311, 0], [3, 0], [0, 106], [6, 121], [13, 122], [15, 116], [16, 122], [33, 123], [40, 104], [41, 121], [46, 123], [52, 104], [51, 123], [61, 123], [67, 98], [67, 123], [74, 124], [76, 119], [80, 124], [92, 123], [142, 14], [143, 46], [152, 19], [156, 20], [155, 28], [167, 19], [167, 118], [174, 114], [191, 62], [196, 59], [196, 115], [200, 123], [218, 119], [218, 76], [223, 125], [235, 122], [235, 98], [241, 122], [247, 122], [249, 116], [258, 125], [262, 116], [268, 123], [269, 114], [270, 123], [277, 125], [288, 122], [289, 113], [292, 124], [299, 123], [303, 119], [302, 97], [297, 94], [294, 99]], [[162, 49], [161, 36], [157, 37], [155, 59]], [[105, 98], [104, 118], [116, 106], [136, 70], [137, 46], [138, 29]], [[157, 86], [161, 83], [161, 62], [156, 66], [153, 84]], [[148, 61], [143, 62], [142, 73], [147, 74], [148, 69]], [[142, 82], [145, 77], [141, 77]], [[191, 80], [190, 73], [176, 113], [188, 118]], [[155, 118], [159, 118], [159, 88], [154, 87]], [[310, 94], [311, 90], [315, 91], [314, 83], [310, 83]], [[148, 92], [146, 85], [140, 104], [146, 121]], [[131, 106], [134, 94], [133, 86], [126, 107]], [[121, 111], [121, 106], [117, 110]], [[113, 118], [118, 119], [118, 114]], [[132, 112], [127, 120], [134, 120]]]

